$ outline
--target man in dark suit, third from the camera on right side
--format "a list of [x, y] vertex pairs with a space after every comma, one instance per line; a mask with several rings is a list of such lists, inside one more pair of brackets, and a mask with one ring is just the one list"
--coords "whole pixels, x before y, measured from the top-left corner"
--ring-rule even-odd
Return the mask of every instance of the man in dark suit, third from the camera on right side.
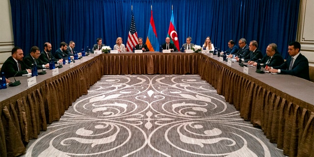
[[255, 40], [250, 41], [250, 45], [249, 45], [249, 59], [245, 59], [244, 62], [247, 62], [248, 64], [252, 65], [255, 62], [257, 62], [258, 59], [262, 59], [263, 55], [262, 55], [262, 51], [258, 48], [258, 43]]

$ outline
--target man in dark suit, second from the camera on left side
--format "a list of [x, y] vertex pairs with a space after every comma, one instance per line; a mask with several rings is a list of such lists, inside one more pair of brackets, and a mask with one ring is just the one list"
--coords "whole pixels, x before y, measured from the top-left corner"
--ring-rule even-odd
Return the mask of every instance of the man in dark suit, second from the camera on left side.
[[42, 60], [39, 59], [40, 56], [40, 50], [37, 46], [33, 46], [30, 49], [30, 53], [27, 54], [24, 57], [24, 63], [32, 67], [32, 64], [37, 65], [37, 69], [44, 69], [44, 68], [49, 68], [49, 62], [43, 62]]

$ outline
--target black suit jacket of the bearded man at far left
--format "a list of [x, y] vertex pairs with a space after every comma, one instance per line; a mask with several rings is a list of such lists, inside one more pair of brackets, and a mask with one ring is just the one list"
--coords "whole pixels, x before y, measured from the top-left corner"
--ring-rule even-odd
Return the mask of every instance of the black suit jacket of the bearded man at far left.
[[12, 56], [8, 57], [6, 61], [3, 63], [0, 73], [4, 72], [5, 78], [11, 78], [15, 76], [22, 76], [23, 74], [28, 74], [26, 69], [31, 69], [28, 67], [23, 61], [20, 62], [21, 71], [19, 71], [19, 67], [16, 61]]

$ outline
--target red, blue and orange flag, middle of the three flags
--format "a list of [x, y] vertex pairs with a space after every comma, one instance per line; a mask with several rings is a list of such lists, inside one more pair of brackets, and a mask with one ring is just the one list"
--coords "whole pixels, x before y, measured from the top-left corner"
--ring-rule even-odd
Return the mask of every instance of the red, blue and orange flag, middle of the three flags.
[[159, 51], [159, 43], [157, 39], [156, 27], [153, 19], [153, 10], [151, 10], [151, 21], [148, 28], [146, 45], [149, 51]]

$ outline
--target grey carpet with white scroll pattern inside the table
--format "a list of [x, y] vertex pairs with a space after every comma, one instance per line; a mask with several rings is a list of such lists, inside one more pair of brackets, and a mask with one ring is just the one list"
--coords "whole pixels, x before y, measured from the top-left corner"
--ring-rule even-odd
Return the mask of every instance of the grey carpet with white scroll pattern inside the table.
[[285, 157], [198, 75], [103, 76], [26, 157]]

